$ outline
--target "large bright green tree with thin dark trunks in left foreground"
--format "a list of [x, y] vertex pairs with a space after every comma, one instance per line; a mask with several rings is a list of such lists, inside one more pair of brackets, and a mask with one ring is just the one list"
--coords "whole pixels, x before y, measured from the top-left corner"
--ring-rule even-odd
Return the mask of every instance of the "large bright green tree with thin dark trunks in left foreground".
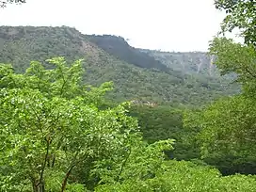
[[[144, 165], [153, 166], [161, 161], [158, 145], [155, 153], [144, 144], [136, 120], [125, 115], [126, 103], [98, 109], [104, 93], [112, 89], [111, 83], [100, 88], [85, 86], [82, 60], [71, 67], [63, 57], [47, 61], [55, 66], [52, 70], [32, 61], [24, 74], [14, 73], [10, 65], [0, 66], [1, 190], [72, 190], [81, 187], [77, 182], [88, 184], [88, 178], [77, 178], [83, 167], [88, 168], [84, 175], [97, 179], [94, 184], [119, 181], [122, 172], [142, 173], [141, 166], [132, 169], [124, 163], [133, 162], [129, 154], [137, 148], [140, 152], [148, 149], [138, 163], [144, 159]], [[171, 147], [172, 140], [166, 142]], [[110, 179], [105, 179], [104, 169], [113, 172]], [[144, 174], [149, 174], [147, 167]]]

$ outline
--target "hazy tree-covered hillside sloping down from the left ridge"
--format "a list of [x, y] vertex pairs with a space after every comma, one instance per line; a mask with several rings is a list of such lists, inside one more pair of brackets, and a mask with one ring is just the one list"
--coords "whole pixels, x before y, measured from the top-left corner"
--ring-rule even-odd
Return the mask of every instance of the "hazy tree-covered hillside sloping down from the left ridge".
[[0, 62], [12, 63], [17, 72], [24, 72], [30, 60], [44, 61], [53, 56], [85, 58], [85, 82], [100, 85], [113, 81], [115, 90], [108, 97], [118, 101], [203, 104], [238, 90], [226, 79], [181, 72], [117, 37], [98, 39], [112, 46], [112, 51], [71, 27], [1, 26]]

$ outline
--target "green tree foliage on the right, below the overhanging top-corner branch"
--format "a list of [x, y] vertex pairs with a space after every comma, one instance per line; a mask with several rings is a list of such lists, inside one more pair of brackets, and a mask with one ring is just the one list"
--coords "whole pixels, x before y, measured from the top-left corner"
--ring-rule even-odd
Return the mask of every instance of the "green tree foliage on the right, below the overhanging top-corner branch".
[[228, 168], [228, 174], [255, 174], [255, 49], [250, 44], [216, 38], [211, 43], [210, 54], [216, 56], [222, 74], [235, 72], [243, 92], [219, 100], [197, 115], [185, 116], [184, 125], [200, 129], [197, 140], [206, 161], [221, 169]]

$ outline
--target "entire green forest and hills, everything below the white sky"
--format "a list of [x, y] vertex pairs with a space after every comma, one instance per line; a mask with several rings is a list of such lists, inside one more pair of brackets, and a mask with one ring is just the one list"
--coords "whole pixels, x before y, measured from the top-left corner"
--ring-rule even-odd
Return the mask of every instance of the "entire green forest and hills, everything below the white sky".
[[0, 26], [0, 191], [256, 191], [255, 5], [216, 0], [245, 42], [209, 53]]

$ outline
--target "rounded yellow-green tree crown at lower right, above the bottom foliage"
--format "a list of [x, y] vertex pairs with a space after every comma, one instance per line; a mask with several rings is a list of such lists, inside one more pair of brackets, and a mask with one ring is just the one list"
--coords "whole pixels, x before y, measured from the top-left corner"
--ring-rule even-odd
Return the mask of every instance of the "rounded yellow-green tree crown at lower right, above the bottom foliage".
[[[217, 101], [185, 126], [198, 126], [202, 157], [223, 173], [255, 174], [255, 102], [244, 96]], [[192, 124], [190, 124], [193, 122]]]

